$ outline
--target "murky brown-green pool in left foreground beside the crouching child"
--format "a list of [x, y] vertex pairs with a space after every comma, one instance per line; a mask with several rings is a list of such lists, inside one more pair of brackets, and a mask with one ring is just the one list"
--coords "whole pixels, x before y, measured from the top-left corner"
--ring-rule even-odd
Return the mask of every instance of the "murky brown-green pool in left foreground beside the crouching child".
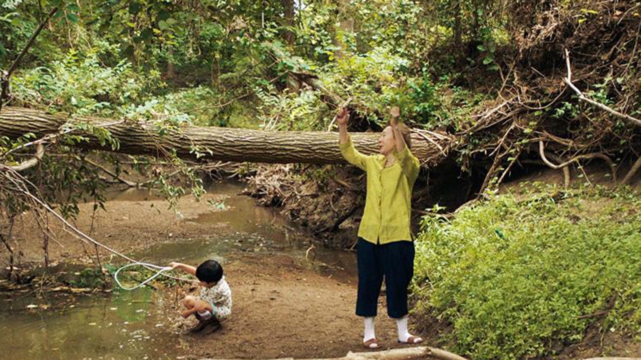
[[[156, 313], [151, 290], [83, 296], [72, 305], [24, 311], [28, 297], [3, 304], [2, 359], [175, 359], [171, 318]], [[73, 306], [73, 307], [71, 307]], [[15, 310], [12, 310], [15, 309]]]

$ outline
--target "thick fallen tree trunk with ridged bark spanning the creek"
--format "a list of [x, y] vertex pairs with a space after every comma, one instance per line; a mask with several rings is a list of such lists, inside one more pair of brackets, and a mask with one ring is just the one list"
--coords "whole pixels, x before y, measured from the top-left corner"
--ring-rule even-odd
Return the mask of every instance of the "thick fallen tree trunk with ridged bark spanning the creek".
[[[113, 122], [111, 119], [76, 118], [67, 119], [40, 110], [4, 107], [0, 111], [0, 136], [15, 139], [26, 133], [37, 138], [62, 132], [66, 126], [76, 123], [105, 124], [119, 148], [112, 150], [109, 145], [88, 136], [88, 142], [78, 143], [88, 150], [117, 151], [131, 155], [163, 157], [176, 152], [183, 160], [193, 161], [248, 161], [256, 163], [315, 163], [328, 164], [343, 162], [338, 148], [338, 134], [315, 131], [260, 131], [229, 129], [222, 127], [184, 126], [176, 129], [163, 127], [163, 135], [155, 124], [140, 121]], [[84, 135], [81, 131], [72, 134]], [[378, 134], [351, 133], [356, 147], [363, 153], [378, 152]], [[412, 134], [412, 153], [424, 165], [435, 165], [444, 160], [454, 143], [453, 136], [415, 131]]]

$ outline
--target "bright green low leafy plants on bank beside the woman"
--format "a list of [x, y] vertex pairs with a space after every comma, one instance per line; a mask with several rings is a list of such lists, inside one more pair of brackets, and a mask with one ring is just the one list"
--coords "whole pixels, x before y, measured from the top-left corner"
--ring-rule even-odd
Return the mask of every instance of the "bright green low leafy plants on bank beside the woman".
[[596, 321], [579, 316], [608, 306], [604, 329], [641, 329], [641, 197], [538, 188], [422, 220], [417, 315], [452, 323], [455, 352], [548, 356]]

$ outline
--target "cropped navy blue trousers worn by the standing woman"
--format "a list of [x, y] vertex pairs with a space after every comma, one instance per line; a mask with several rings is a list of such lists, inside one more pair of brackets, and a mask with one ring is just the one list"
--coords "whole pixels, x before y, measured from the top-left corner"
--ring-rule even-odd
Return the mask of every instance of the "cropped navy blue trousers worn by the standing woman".
[[376, 316], [383, 275], [385, 275], [387, 315], [395, 319], [407, 315], [407, 287], [414, 275], [414, 243], [394, 241], [387, 244], [373, 244], [358, 238], [357, 252], [356, 315]]

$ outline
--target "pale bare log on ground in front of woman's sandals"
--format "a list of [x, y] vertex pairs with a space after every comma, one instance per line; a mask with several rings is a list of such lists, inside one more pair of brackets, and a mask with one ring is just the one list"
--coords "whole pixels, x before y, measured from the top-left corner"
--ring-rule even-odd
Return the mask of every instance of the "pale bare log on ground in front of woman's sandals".
[[[445, 350], [431, 347], [397, 348], [376, 352], [348, 352], [344, 357], [333, 359], [306, 359], [306, 360], [409, 360], [409, 359], [439, 359], [439, 360], [467, 360]], [[221, 360], [221, 359], [201, 359]], [[295, 360], [292, 357], [276, 360]]]

